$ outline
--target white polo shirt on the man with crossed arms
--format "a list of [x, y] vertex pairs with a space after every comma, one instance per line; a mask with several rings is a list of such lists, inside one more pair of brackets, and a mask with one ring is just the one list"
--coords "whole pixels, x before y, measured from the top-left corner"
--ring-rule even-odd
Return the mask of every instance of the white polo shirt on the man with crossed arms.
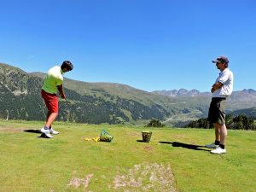
[[217, 82], [222, 83], [223, 86], [220, 89], [215, 90], [212, 93], [212, 97], [226, 98], [230, 96], [233, 91], [233, 73], [229, 68], [225, 68], [223, 72], [219, 73], [215, 83]]

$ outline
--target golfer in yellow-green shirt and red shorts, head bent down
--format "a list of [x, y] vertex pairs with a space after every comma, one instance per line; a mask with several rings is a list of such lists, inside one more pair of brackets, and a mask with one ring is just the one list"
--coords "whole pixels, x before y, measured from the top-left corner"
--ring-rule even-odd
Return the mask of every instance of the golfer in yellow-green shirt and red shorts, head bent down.
[[48, 108], [48, 113], [46, 117], [46, 124], [41, 129], [41, 132], [44, 134], [45, 137], [53, 138], [50, 134], [59, 134], [58, 131], [54, 131], [51, 127], [59, 112], [57, 92], [59, 91], [62, 99], [66, 99], [62, 88], [63, 73], [72, 70], [73, 64], [70, 61], [63, 61], [61, 67], [55, 66], [50, 68], [46, 77], [44, 78], [41, 95], [44, 98], [46, 107]]

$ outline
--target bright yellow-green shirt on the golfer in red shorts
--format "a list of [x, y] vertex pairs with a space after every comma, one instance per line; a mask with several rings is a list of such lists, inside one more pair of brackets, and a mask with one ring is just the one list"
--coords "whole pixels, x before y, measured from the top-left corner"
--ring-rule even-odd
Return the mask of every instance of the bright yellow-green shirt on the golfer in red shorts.
[[58, 92], [57, 86], [63, 83], [62, 74], [61, 67], [55, 66], [50, 68], [44, 78], [42, 90], [45, 90], [47, 93], [56, 94]]

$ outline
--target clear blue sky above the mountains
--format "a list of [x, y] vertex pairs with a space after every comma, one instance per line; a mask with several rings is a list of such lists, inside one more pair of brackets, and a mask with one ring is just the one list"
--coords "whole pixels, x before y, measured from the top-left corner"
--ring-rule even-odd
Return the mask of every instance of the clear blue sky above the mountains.
[[230, 58], [235, 90], [256, 89], [253, 0], [0, 1], [0, 62], [141, 90], [209, 91]]

